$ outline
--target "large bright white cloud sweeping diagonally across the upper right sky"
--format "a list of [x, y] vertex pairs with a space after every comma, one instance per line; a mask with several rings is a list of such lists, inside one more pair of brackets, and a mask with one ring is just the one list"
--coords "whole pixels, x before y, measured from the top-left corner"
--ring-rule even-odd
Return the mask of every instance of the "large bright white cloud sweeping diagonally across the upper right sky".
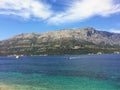
[[65, 12], [57, 13], [49, 19], [50, 23], [61, 24], [81, 21], [95, 15], [109, 16], [120, 12], [120, 4], [115, 0], [75, 0]]

